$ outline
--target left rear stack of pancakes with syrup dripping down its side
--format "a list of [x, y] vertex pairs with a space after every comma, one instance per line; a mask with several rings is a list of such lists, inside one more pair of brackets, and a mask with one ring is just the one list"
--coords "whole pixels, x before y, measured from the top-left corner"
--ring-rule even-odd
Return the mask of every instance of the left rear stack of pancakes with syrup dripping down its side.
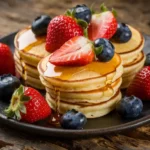
[[15, 37], [15, 67], [25, 85], [44, 89], [37, 70], [39, 61], [49, 53], [45, 50], [45, 36], [36, 37], [31, 28], [21, 30]]

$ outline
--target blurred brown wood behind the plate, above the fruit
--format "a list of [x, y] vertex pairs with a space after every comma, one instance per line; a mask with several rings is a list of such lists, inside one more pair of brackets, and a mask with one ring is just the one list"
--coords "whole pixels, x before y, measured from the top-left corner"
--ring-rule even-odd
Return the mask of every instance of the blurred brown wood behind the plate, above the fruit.
[[98, 11], [102, 2], [117, 10], [119, 21], [150, 35], [150, 0], [0, 0], [0, 36], [30, 25], [41, 14], [54, 17], [77, 4], [93, 4]]

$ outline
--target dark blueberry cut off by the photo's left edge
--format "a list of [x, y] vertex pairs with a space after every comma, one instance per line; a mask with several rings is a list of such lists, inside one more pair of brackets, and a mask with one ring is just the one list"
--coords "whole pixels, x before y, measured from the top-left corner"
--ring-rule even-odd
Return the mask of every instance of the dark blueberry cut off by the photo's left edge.
[[20, 80], [11, 75], [0, 76], [0, 100], [9, 102], [15, 89], [20, 86]]

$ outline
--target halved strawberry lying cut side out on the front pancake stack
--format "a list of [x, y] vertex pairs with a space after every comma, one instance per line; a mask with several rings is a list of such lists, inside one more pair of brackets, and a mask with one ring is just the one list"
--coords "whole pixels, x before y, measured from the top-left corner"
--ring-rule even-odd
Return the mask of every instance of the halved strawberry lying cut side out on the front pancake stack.
[[50, 55], [49, 62], [57, 66], [86, 65], [94, 59], [92, 43], [83, 36], [76, 36], [67, 41], [60, 49]]

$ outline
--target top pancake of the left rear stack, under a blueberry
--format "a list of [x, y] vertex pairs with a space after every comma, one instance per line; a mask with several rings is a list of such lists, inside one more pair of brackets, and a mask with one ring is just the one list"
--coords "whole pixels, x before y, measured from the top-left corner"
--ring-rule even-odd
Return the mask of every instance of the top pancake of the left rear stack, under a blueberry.
[[25, 63], [37, 66], [49, 53], [45, 50], [45, 36], [36, 37], [31, 27], [21, 30], [15, 36], [14, 44]]

